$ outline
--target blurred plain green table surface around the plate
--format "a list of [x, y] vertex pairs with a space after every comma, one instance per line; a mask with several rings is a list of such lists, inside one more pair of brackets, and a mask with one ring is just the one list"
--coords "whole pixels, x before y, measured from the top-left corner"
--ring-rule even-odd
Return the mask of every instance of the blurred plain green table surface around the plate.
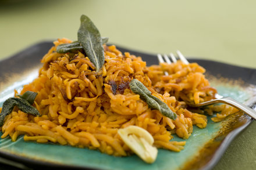
[[[80, 15], [116, 45], [256, 68], [256, 1], [0, 0], [0, 59], [44, 40], [76, 40]], [[236, 74], [236, 73], [234, 73]], [[217, 169], [256, 168], [256, 124], [230, 144]]]

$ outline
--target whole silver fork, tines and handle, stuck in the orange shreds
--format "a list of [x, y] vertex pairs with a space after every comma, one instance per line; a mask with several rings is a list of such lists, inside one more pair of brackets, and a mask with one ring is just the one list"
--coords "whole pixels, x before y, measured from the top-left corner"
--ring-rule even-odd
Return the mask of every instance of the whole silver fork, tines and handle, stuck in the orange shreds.
[[[158, 54], [157, 57], [158, 57], [159, 63], [165, 63], [166, 62], [166, 63], [170, 64], [170, 63], [176, 63], [177, 62], [177, 59], [173, 55], [173, 53], [170, 53], [170, 57], [166, 54], [163, 55], [163, 57], [162, 57], [162, 55]], [[180, 59], [183, 63], [189, 64], [187, 59], [182, 55], [182, 53], [179, 50], [177, 50], [177, 58]], [[172, 60], [172, 62], [171, 62], [170, 59]], [[165, 71], [165, 75], [168, 75], [168, 72]], [[207, 102], [198, 103], [198, 104], [191, 103], [191, 102], [188, 102], [188, 101], [185, 101], [185, 102], [189, 106], [192, 106], [192, 107], [207, 106], [207, 105], [215, 104], [215, 103], [225, 103], [225, 104], [228, 104], [230, 106], [236, 107], [237, 109], [243, 111], [247, 115], [250, 115], [250, 117], [252, 117], [252, 118], [254, 118], [254, 120], [256, 120], [256, 111], [254, 111], [252, 108], [246, 106], [245, 104], [237, 102], [236, 100], [232, 99], [231, 97], [223, 97], [223, 96], [219, 95], [218, 93], [216, 93], [215, 98], [216, 99], [209, 100]]]

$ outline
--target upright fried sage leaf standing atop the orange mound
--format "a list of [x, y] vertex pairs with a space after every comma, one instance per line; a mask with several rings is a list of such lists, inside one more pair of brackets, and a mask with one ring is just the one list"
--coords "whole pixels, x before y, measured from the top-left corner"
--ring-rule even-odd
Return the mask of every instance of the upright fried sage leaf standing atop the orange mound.
[[101, 34], [87, 16], [82, 15], [80, 21], [81, 25], [77, 32], [78, 41], [98, 72], [105, 62]]

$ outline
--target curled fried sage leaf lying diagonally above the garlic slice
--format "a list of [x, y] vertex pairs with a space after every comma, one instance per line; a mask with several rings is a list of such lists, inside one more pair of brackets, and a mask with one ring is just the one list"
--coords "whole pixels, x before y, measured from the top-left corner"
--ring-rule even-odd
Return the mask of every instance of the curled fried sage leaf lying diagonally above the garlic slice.
[[133, 79], [129, 85], [131, 91], [140, 95], [140, 98], [144, 100], [150, 108], [159, 110], [162, 115], [172, 120], [177, 118], [177, 114], [170, 110], [167, 104], [158, 99], [158, 97], [151, 95], [151, 92], [140, 81]]

